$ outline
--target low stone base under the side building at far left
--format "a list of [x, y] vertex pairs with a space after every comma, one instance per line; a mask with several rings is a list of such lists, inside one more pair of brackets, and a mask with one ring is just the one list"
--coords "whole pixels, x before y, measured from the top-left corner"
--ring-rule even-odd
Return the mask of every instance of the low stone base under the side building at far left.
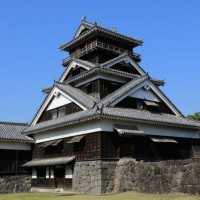
[[0, 193], [29, 192], [31, 178], [26, 175], [0, 176]]

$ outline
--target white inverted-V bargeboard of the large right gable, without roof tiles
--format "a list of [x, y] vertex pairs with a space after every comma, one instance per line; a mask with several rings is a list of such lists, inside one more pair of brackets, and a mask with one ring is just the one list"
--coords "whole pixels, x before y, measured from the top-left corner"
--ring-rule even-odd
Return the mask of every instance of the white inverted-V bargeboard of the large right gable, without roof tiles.
[[132, 90], [126, 92], [124, 95], [122, 95], [120, 98], [116, 99], [112, 103], [110, 103], [110, 106], [116, 105], [118, 102], [122, 101], [127, 96], [131, 95], [135, 91], [139, 90], [141, 87], [145, 86], [146, 84], [149, 84], [150, 89], [169, 107], [169, 109], [176, 115], [176, 116], [182, 116], [182, 114], [167, 100], [163, 94], [149, 81], [146, 80], [142, 83], [140, 83], [138, 86], [133, 88]]

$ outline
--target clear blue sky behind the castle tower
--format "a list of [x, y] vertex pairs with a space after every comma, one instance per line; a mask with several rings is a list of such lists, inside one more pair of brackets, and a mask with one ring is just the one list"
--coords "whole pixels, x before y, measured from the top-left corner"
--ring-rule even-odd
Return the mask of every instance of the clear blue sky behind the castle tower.
[[81, 17], [143, 39], [141, 66], [165, 79], [162, 90], [187, 115], [200, 111], [200, 1], [1, 0], [0, 121], [30, 122], [64, 70], [58, 47]]

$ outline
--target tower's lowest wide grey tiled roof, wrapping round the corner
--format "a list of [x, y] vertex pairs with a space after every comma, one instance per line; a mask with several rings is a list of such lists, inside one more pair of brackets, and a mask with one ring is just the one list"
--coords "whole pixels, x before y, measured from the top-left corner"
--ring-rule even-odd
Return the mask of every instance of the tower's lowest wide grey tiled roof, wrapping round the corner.
[[55, 128], [61, 128], [72, 124], [86, 122], [96, 118], [109, 118], [127, 121], [135, 121], [149, 124], [162, 124], [166, 126], [184, 127], [200, 129], [200, 123], [175, 115], [155, 114], [148, 111], [125, 108], [94, 107], [91, 110], [84, 110], [64, 117], [55, 118], [49, 121], [38, 123], [24, 130], [25, 134], [47, 131]]

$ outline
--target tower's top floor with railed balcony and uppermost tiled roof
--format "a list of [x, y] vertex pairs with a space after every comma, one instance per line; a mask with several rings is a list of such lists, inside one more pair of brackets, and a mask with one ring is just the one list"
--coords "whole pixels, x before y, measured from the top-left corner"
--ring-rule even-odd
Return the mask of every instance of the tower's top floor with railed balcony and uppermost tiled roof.
[[83, 18], [73, 39], [60, 46], [60, 49], [69, 52], [70, 58], [95, 64], [106, 62], [124, 52], [128, 52], [134, 61], [139, 62], [141, 57], [134, 53], [134, 48], [142, 43], [142, 40], [117, 33], [114, 27], [112, 30], [106, 29]]

